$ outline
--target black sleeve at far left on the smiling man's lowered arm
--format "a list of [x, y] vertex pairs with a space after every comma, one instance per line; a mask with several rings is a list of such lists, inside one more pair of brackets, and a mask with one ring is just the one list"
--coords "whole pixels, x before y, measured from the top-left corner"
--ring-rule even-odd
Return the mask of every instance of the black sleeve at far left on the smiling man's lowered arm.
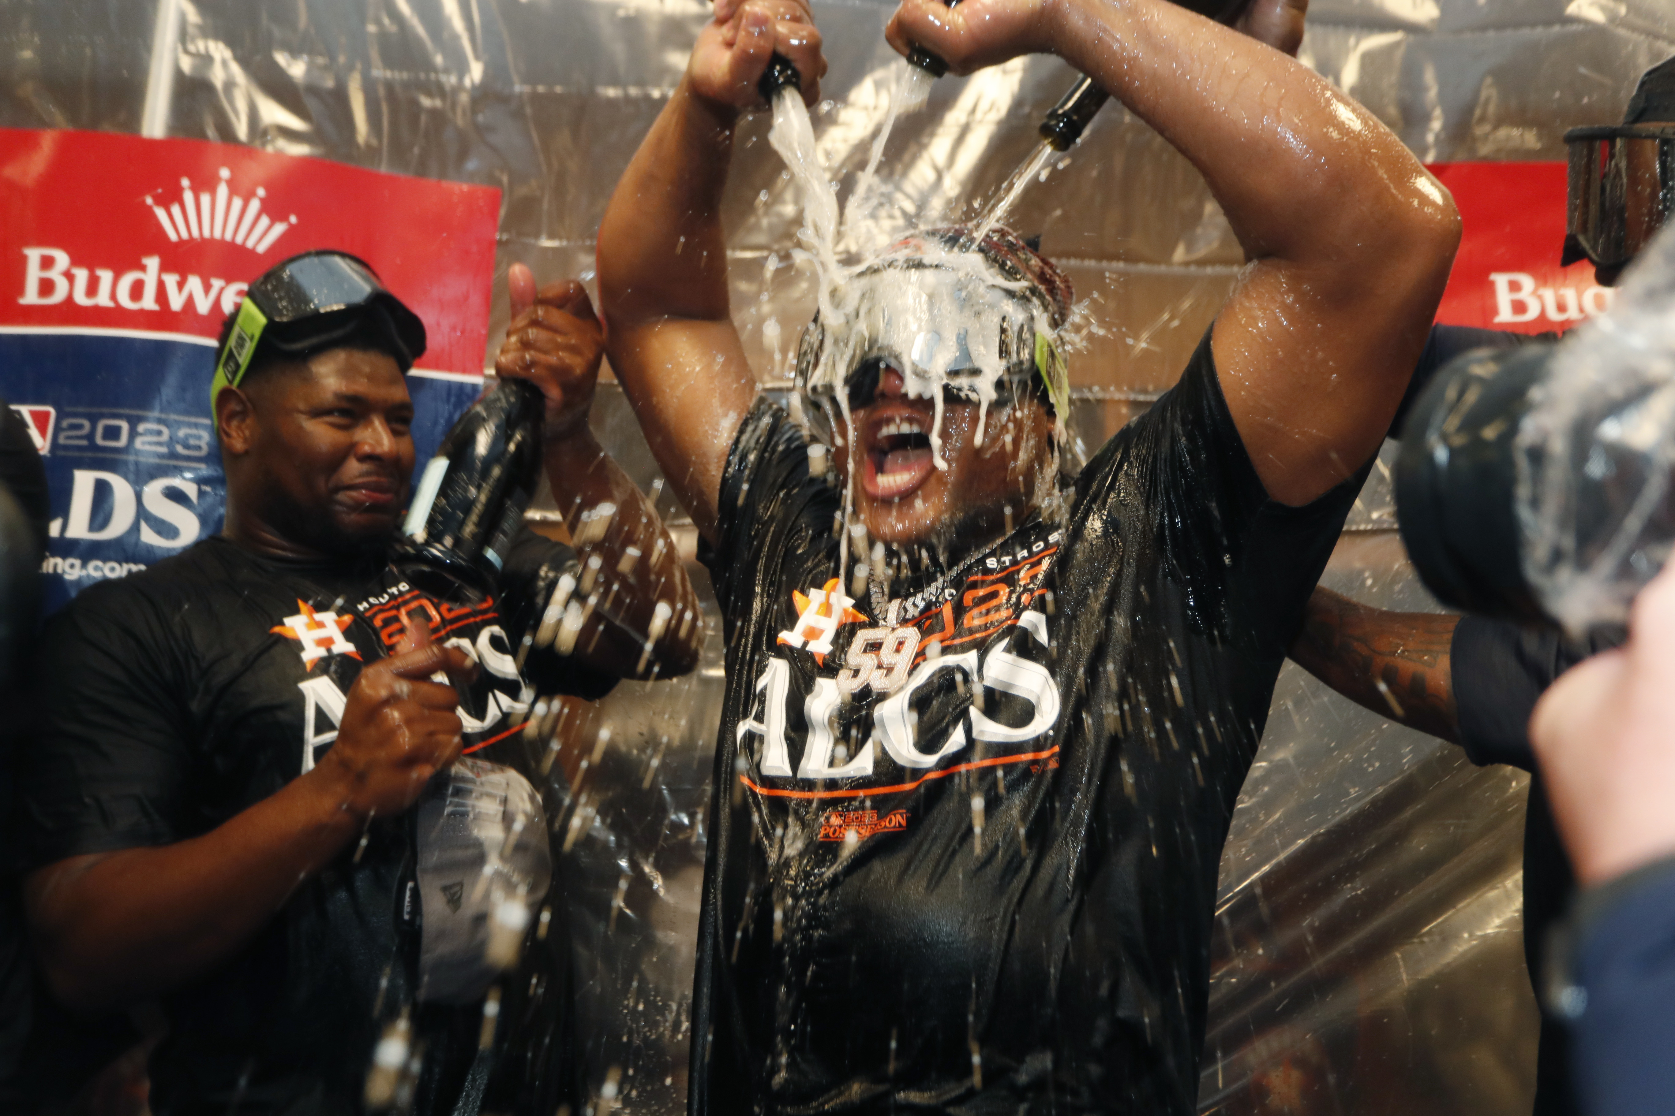
[[49, 621], [17, 751], [20, 868], [193, 835], [193, 674], [124, 582], [84, 591]]

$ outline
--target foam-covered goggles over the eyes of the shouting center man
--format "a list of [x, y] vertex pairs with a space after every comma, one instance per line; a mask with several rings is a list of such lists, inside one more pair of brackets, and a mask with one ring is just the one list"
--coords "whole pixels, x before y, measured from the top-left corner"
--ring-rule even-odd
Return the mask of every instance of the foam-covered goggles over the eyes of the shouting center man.
[[816, 315], [797, 343], [804, 415], [826, 442], [844, 410], [874, 402], [886, 368], [910, 398], [1007, 405], [1035, 393], [1055, 413], [1069, 407], [1049, 310], [1025, 281], [975, 264], [894, 263], [861, 273], [834, 303], [843, 326]]

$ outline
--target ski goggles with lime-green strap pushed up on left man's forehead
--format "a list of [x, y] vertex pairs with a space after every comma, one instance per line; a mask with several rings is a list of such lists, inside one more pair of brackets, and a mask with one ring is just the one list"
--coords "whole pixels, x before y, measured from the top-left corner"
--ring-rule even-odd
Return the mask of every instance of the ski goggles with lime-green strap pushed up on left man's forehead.
[[291, 256], [245, 293], [233, 331], [216, 353], [209, 407], [221, 388], [245, 378], [258, 346], [308, 356], [368, 331], [404, 373], [424, 355], [419, 315], [384, 289], [362, 259], [335, 251]]

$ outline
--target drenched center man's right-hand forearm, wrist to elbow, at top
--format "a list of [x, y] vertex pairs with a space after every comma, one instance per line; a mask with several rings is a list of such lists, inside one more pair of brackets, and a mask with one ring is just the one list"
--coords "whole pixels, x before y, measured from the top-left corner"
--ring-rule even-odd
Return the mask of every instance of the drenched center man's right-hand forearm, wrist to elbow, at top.
[[1253, 259], [1382, 256], [1409, 218], [1444, 207], [1360, 105], [1231, 28], [1166, 0], [1057, 0], [1044, 18], [1055, 54], [1203, 172]]

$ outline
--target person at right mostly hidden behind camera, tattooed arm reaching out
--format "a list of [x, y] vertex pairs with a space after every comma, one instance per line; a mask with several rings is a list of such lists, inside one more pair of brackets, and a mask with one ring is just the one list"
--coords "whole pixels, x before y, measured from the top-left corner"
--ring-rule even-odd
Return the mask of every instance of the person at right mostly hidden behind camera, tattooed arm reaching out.
[[[1675, 189], [1675, 59], [1647, 70], [1623, 124], [1581, 127], [1569, 147], [1569, 224], [1563, 263], [1591, 259], [1601, 286], [1615, 286], [1635, 253], [1672, 212]], [[1559, 248], [1559, 246], [1554, 246]], [[1461, 353], [1551, 341], [1462, 326], [1435, 326], [1404, 400]], [[1402, 415], [1390, 427], [1399, 437]], [[1477, 616], [1392, 612], [1317, 589], [1291, 658], [1327, 686], [1379, 716], [1461, 745], [1477, 765], [1504, 763], [1531, 773], [1524, 818], [1524, 960], [1541, 987], [1549, 929], [1576, 895], [1576, 875], [1559, 843], [1528, 724], [1536, 699], [1615, 636], [1571, 641]], [[1395, 693], [1392, 704], [1387, 694]], [[1563, 1022], [1541, 1017], [1536, 1116], [1580, 1111]]]

